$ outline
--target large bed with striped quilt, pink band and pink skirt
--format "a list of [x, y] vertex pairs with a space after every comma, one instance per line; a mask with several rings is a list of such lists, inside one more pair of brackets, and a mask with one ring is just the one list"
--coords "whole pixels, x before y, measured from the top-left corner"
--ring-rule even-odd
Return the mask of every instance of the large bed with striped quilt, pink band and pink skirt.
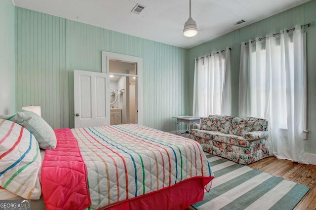
[[[1, 128], [10, 130], [12, 125], [8, 120], [0, 124], [0, 140], [8, 133]], [[29, 165], [41, 174], [46, 209], [185, 209], [201, 201], [211, 187], [210, 166], [193, 140], [137, 124], [53, 132], [55, 143], [39, 142], [46, 147], [42, 164]], [[26, 134], [26, 140], [33, 133]], [[0, 186], [12, 192], [2, 179]]]

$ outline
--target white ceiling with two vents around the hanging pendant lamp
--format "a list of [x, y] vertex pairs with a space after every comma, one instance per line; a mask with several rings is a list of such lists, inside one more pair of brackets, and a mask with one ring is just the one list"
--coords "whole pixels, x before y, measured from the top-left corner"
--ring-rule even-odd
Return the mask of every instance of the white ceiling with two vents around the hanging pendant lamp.
[[[192, 0], [198, 34], [185, 37], [189, 0], [12, 0], [16, 6], [190, 48], [309, 0]], [[136, 3], [145, 9], [131, 12]], [[239, 20], [245, 20], [235, 26]]]

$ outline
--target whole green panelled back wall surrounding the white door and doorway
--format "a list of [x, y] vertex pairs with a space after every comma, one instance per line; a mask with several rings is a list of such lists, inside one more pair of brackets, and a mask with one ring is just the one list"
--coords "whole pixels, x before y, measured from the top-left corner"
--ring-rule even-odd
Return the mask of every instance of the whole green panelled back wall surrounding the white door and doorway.
[[16, 107], [40, 105], [53, 128], [74, 127], [74, 70], [101, 72], [101, 51], [143, 58], [144, 125], [175, 130], [188, 112], [188, 50], [15, 7]]

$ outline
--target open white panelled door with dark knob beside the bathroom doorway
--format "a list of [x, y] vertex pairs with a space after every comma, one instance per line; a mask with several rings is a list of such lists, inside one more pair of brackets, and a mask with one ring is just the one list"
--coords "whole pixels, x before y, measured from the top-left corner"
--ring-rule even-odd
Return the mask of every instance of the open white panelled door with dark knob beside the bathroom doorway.
[[74, 71], [75, 128], [110, 125], [107, 73]]

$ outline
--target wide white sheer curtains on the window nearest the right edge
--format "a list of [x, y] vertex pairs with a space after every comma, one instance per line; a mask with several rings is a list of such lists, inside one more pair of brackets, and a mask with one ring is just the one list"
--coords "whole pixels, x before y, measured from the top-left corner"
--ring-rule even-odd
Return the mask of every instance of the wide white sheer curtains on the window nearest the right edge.
[[308, 164], [304, 151], [306, 54], [301, 26], [241, 44], [239, 115], [269, 120], [269, 151]]

